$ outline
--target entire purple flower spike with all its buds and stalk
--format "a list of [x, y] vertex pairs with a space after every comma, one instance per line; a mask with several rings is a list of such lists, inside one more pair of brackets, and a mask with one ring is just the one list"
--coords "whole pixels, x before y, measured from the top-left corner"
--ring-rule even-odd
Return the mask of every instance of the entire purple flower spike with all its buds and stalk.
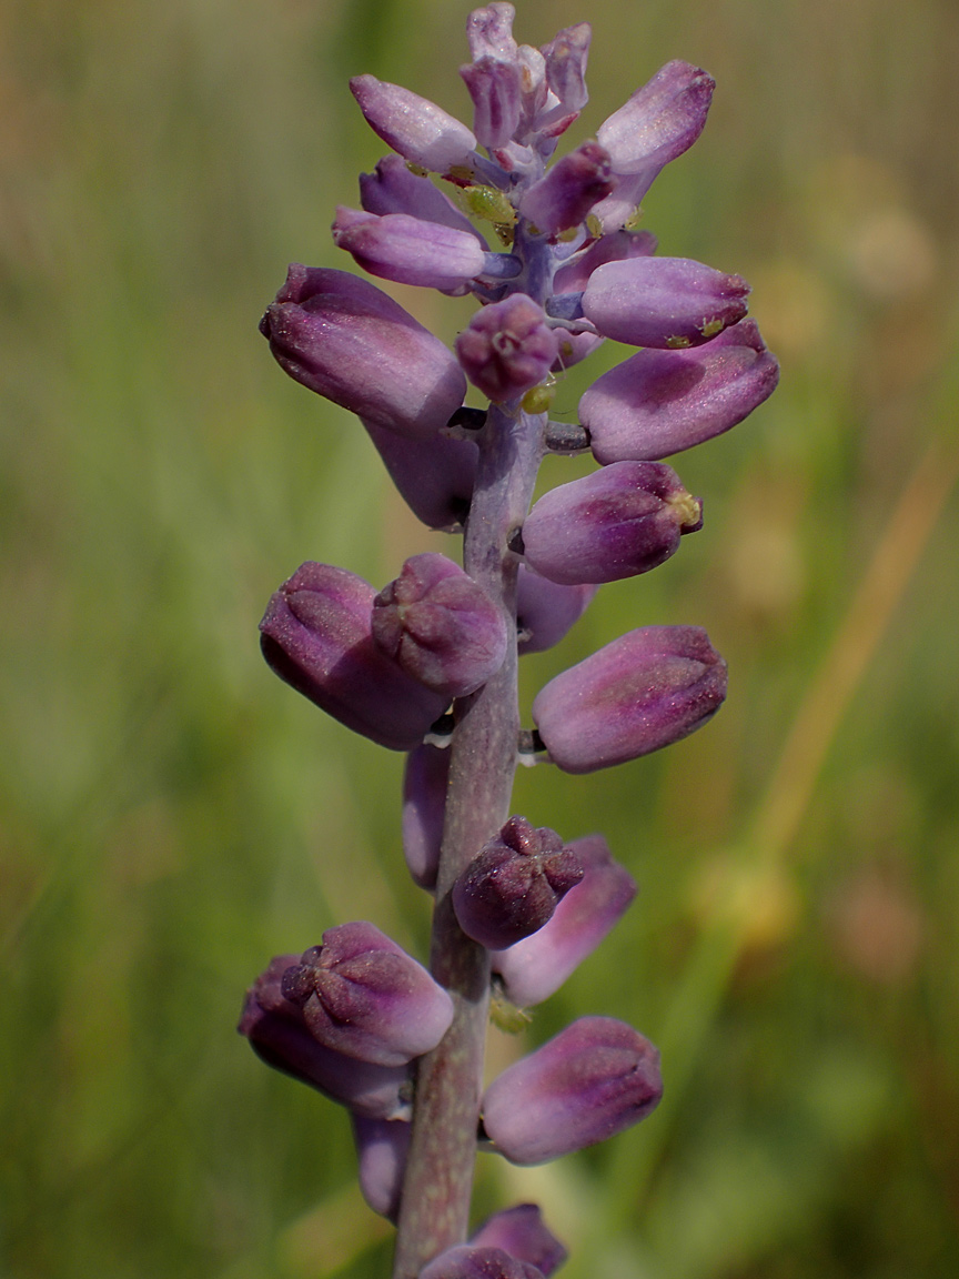
[[[240, 1023], [271, 1065], [349, 1108], [363, 1193], [399, 1223], [403, 1279], [551, 1274], [565, 1253], [532, 1205], [468, 1238], [477, 1142], [537, 1164], [659, 1101], [656, 1049], [609, 1017], [581, 1018], [481, 1091], [490, 990], [547, 999], [635, 894], [602, 836], [510, 816], [510, 784], [520, 749], [577, 774], [685, 737], [721, 705], [725, 663], [698, 627], [630, 631], [547, 683], [520, 732], [517, 656], [557, 643], [601, 583], [656, 568], [702, 527], [661, 459], [742, 421], [779, 376], [747, 284], [657, 257], [633, 228], [699, 136], [712, 79], [669, 63], [550, 166], [587, 102], [589, 27], [534, 49], [513, 18], [504, 3], [469, 17], [472, 129], [399, 86], [352, 82], [394, 153], [362, 175], [361, 208], [338, 208], [334, 240], [382, 280], [472, 294], [455, 350], [348, 271], [290, 266], [261, 322], [292, 377], [361, 418], [413, 513], [464, 533], [462, 568], [414, 555], [378, 593], [306, 563], [261, 623], [281, 679], [408, 753], [403, 844], [436, 899], [431, 971], [372, 923], [345, 923], [274, 959]], [[641, 349], [586, 391], [577, 425], [552, 422], [556, 381], [606, 338]], [[465, 407], [468, 384], [487, 408]], [[591, 450], [598, 469], [531, 509], [551, 450]]]

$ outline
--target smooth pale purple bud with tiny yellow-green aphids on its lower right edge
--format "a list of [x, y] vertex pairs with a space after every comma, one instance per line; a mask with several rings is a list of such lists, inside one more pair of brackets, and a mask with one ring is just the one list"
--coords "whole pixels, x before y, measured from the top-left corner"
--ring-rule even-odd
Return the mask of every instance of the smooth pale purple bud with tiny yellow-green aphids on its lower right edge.
[[583, 315], [633, 347], [699, 347], [745, 315], [749, 285], [685, 257], [606, 262], [589, 276]]

